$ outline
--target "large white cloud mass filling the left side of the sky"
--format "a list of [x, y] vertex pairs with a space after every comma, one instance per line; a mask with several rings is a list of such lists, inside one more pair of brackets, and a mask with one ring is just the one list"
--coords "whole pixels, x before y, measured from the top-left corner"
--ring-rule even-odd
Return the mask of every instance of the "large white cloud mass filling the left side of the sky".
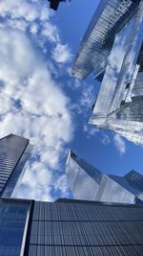
[[[45, 1], [31, 0], [0, 3], [4, 18], [0, 24], [0, 137], [12, 132], [30, 138], [34, 145], [19, 197], [52, 200], [73, 126], [70, 100], [51, 78], [51, 60], [43, 58], [46, 40], [55, 48], [60, 41], [56, 27], [49, 35], [46, 30], [45, 35], [39, 32], [39, 24], [45, 27], [50, 18], [47, 6]], [[50, 22], [47, 26], [47, 31], [53, 28]], [[64, 49], [68, 53], [68, 46]]]

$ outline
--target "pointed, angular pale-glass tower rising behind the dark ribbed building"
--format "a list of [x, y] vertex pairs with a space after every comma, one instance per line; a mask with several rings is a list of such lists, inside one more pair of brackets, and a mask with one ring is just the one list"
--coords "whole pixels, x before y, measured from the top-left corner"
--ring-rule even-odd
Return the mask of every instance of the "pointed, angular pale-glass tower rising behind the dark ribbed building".
[[143, 204], [143, 175], [135, 171], [105, 175], [71, 151], [66, 173], [74, 199]]

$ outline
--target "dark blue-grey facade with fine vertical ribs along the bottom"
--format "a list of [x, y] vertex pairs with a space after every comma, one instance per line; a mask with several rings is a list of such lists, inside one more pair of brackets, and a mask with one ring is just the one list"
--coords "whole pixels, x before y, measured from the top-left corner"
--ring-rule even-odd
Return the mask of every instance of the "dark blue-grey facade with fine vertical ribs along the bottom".
[[142, 255], [143, 208], [60, 199], [34, 202], [29, 256]]

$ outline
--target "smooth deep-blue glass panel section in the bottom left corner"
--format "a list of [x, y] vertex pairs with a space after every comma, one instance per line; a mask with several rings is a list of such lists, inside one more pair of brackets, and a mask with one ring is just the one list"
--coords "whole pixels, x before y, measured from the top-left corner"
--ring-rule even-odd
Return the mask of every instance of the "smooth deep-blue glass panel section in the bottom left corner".
[[20, 256], [30, 202], [0, 199], [0, 256]]

